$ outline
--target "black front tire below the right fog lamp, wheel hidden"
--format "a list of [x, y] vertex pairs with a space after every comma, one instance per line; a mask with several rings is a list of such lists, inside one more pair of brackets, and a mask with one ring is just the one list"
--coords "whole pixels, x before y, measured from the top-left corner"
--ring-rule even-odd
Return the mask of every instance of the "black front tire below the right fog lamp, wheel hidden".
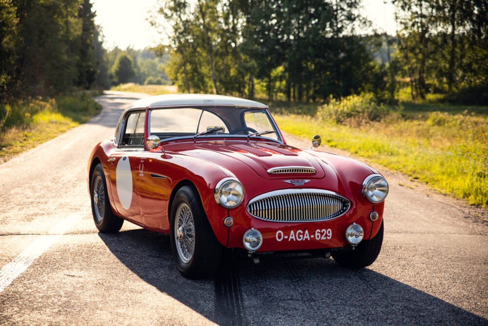
[[347, 268], [360, 269], [371, 265], [380, 254], [383, 243], [383, 221], [376, 236], [361, 241], [354, 250], [340, 250], [332, 253], [332, 258], [339, 265]]

